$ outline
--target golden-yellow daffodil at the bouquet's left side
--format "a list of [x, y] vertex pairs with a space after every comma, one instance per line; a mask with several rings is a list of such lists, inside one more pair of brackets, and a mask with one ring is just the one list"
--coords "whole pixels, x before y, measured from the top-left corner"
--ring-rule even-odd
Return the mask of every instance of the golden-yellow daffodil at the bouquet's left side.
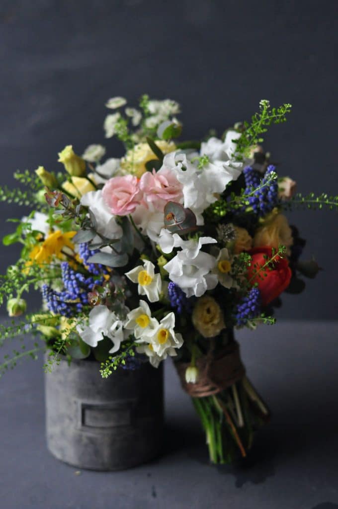
[[52, 256], [62, 259], [62, 249], [64, 247], [68, 247], [72, 250], [74, 249], [74, 244], [71, 242], [71, 239], [75, 234], [76, 232], [62, 233], [60, 230], [51, 233], [43, 242], [37, 244], [32, 249], [26, 266], [29, 267], [33, 263], [37, 263], [39, 265], [48, 263]]

